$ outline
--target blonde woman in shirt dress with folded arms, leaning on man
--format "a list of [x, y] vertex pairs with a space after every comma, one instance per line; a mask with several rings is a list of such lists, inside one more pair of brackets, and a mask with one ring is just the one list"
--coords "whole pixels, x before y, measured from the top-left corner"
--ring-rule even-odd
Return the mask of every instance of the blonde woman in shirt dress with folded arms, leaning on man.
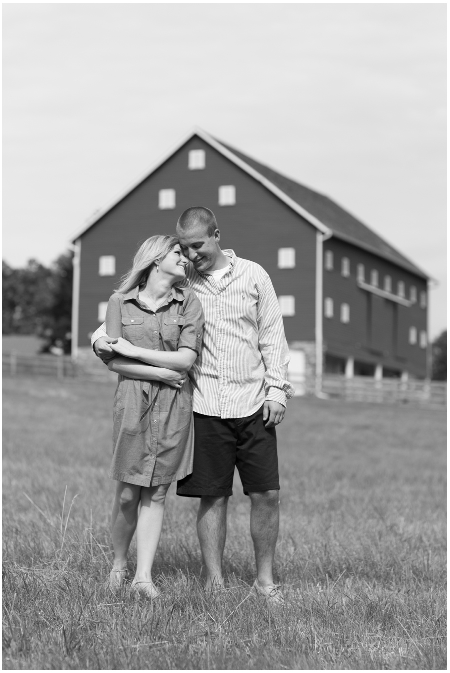
[[[110, 298], [106, 330], [118, 354], [114, 399], [114, 454], [109, 476], [118, 484], [112, 509], [114, 565], [108, 584], [127, 576], [126, 557], [137, 529], [132, 588], [159, 595], [151, 570], [173, 481], [192, 472], [192, 390], [186, 373], [200, 353], [204, 317], [195, 293], [176, 283], [188, 260], [175, 236], [152, 236]], [[141, 511], [138, 516], [139, 504]]]

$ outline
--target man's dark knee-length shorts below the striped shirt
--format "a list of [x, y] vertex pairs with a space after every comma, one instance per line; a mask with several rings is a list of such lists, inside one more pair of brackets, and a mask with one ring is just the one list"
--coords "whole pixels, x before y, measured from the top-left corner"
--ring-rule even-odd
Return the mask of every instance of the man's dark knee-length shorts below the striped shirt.
[[246, 495], [279, 490], [276, 431], [265, 427], [263, 411], [242, 419], [194, 413], [194, 472], [178, 482], [177, 495], [233, 495], [235, 467]]

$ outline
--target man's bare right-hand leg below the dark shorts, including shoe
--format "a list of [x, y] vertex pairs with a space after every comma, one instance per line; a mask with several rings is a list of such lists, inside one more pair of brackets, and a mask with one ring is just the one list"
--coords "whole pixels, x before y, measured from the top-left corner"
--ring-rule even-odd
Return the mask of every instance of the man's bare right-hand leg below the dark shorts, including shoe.
[[280, 528], [279, 491], [249, 493], [252, 501], [250, 532], [255, 547], [256, 571], [261, 586], [274, 584], [273, 565]]

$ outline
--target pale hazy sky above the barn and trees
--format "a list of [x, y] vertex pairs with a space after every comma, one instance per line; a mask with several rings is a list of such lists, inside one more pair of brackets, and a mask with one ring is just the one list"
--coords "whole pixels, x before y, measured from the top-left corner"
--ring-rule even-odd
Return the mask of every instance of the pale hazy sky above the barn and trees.
[[3, 3], [3, 259], [50, 264], [199, 126], [433, 278], [447, 328], [446, 3]]

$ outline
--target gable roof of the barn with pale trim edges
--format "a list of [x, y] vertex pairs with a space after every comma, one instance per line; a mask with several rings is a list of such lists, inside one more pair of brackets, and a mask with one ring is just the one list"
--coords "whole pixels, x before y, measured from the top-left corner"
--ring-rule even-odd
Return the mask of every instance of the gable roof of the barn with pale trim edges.
[[73, 237], [72, 240], [77, 240], [82, 236], [87, 229], [96, 224], [108, 211], [114, 208], [122, 199], [124, 199], [130, 192], [132, 192], [143, 180], [151, 176], [159, 166], [164, 164], [178, 149], [181, 149], [194, 135], [197, 135], [205, 142], [209, 143], [217, 149], [220, 153], [225, 155], [233, 163], [245, 170], [248, 174], [254, 177], [258, 182], [261, 182], [268, 190], [273, 192], [281, 201], [284, 201], [295, 210], [299, 215], [307, 219], [313, 226], [319, 229], [322, 233], [330, 236], [336, 236], [349, 242], [355, 246], [365, 248], [369, 252], [373, 252], [382, 258], [385, 258], [398, 266], [408, 269], [412, 273], [428, 279], [429, 276], [419, 269], [416, 264], [408, 260], [401, 252], [393, 248], [381, 236], [376, 234], [370, 227], [365, 225], [359, 219], [344, 210], [338, 203], [332, 201], [320, 192], [316, 192], [309, 187], [284, 176], [281, 173], [273, 170], [265, 164], [260, 164], [240, 150], [227, 145], [222, 141], [209, 135], [198, 127], [188, 133], [182, 140], [180, 140], [171, 151], [165, 154], [151, 170], [147, 171], [144, 176], [139, 178], [126, 192], [110, 203], [105, 209], [96, 213], [85, 227]]

